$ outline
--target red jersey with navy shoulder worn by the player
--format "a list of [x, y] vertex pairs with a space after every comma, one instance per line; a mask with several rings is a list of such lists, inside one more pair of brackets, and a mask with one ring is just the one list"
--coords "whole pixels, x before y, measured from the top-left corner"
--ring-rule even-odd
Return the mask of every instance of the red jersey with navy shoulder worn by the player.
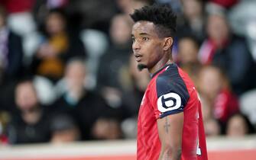
[[[176, 64], [156, 72], [147, 86], [138, 114], [137, 159], [157, 160], [157, 119], [183, 112], [182, 160], [207, 160], [201, 104], [189, 76]], [[171, 125], [171, 124], [170, 124]]]

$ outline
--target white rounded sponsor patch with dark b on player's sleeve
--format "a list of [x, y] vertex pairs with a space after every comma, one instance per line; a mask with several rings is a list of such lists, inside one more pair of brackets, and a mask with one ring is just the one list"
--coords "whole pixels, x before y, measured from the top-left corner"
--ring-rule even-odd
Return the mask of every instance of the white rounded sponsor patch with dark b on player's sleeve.
[[161, 95], [157, 99], [157, 108], [160, 112], [177, 110], [180, 107], [181, 107], [181, 98], [179, 94], [171, 92], [171, 93]]

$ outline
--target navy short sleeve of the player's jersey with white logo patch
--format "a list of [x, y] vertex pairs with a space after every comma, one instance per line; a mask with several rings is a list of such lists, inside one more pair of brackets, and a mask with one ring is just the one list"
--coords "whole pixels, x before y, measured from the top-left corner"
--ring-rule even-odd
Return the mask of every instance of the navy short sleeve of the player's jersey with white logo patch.
[[169, 69], [156, 79], [154, 114], [157, 118], [183, 112], [190, 94], [178, 69]]

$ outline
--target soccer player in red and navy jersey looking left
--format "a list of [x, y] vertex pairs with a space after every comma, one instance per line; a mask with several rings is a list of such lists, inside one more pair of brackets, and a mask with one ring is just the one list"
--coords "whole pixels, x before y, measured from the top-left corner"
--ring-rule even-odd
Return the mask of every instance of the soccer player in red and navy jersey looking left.
[[177, 16], [163, 5], [131, 14], [138, 69], [151, 73], [138, 115], [138, 160], [207, 160], [201, 104], [189, 76], [173, 63]]

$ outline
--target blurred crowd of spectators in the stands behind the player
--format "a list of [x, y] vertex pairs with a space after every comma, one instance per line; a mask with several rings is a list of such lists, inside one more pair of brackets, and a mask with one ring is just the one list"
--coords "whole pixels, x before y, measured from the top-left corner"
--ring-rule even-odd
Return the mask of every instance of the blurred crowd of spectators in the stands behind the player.
[[131, 139], [151, 80], [129, 18], [177, 12], [173, 59], [199, 91], [206, 136], [256, 126], [253, 0], [0, 0], [0, 144]]

